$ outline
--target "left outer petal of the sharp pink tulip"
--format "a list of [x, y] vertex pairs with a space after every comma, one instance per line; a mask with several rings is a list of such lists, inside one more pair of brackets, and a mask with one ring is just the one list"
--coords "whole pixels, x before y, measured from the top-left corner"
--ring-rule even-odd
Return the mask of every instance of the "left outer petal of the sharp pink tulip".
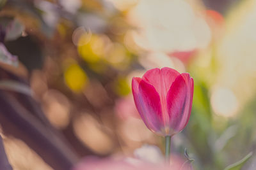
[[163, 118], [161, 102], [156, 89], [141, 78], [132, 78], [134, 102], [143, 122], [153, 132], [161, 131]]

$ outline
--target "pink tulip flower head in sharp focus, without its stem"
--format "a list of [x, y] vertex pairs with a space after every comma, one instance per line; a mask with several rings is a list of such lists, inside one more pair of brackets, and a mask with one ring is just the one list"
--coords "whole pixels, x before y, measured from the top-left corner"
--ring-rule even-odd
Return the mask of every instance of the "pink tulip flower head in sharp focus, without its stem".
[[188, 124], [194, 81], [188, 73], [164, 67], [132, 78], [132, 94], [148, 129], [160, 136], [173, 136]]

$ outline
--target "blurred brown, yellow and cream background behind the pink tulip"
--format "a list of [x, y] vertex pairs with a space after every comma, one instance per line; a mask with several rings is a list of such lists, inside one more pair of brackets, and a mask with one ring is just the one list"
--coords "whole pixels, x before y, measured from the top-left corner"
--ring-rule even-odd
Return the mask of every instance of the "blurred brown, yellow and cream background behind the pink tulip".
[[[173, 137], [173, 154], [184, 157], [187, 148], [193, 167], [207, 170], [255, 152], [255, 0], [0, 6], [0, 134], [13, 169], [69, 169], [86, 155], [132, 157], [146, 143], [163, 151], [131, 95], [132, 77], [154, 67], [195, 81], [191, 118]], [[255, 162], [253, 155], [243, 169]]]

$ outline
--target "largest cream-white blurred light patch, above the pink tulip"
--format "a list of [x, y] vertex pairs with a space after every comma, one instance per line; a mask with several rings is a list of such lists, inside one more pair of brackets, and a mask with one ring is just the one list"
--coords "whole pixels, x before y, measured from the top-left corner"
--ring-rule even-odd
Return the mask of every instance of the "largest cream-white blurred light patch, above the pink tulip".
[[147, 50], [188, 51], [205, 48], [211, 40], [203, 16], [195, 15], [186, 1], [140, 1], [129, 20], [139, 27], [136, 44]]

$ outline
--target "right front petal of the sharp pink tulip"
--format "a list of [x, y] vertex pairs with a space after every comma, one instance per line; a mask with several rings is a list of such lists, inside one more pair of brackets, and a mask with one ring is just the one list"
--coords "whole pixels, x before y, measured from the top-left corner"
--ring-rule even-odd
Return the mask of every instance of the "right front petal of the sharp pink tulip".
[[[188, 86], [183, 75], [177, 76], [173, 81], [170, 90], [166, 96], [167, 110], [169, 115], [169, 126], [173, 131], [179, 132], [180, 122], [185, 121], [188, 113], [185, 112], [187, 105], [190, 104], [190, 96], [188, 96]], [[173, 134], [172, 134], [173, 135]]]

